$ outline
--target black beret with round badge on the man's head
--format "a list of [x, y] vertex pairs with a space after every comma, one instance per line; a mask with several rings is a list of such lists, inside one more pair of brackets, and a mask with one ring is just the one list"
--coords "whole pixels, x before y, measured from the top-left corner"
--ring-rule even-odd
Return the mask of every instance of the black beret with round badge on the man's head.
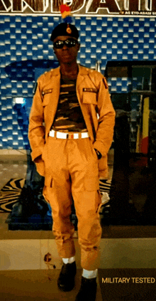
[[50, 40], [54, 41], [57, 36], [72, 36], [78, 39], [79, 32], [77, 28], [70, 23], [60, 23], [53, 29]]

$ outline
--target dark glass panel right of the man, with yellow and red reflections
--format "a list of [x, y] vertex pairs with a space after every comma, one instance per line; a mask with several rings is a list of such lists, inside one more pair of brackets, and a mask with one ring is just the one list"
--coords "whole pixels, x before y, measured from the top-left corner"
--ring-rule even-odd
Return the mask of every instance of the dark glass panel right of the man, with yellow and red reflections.
[[107, 223], [155, 225], [156, 66], [128, 64], [127, 92], [123, 85], [118, 89], [123, 74], [114, 78], [112, 64], [107, 74], [111, 75], [108, 83], [116, 110]]

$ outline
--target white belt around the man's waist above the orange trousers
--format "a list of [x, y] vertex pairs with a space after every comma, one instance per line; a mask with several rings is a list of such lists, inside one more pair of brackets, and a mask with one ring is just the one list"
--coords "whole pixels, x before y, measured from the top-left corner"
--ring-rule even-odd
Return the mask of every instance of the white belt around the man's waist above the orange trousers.
[[56, 138], [60, 138], [60, 139], [80, 139], [80, 138], [89, 138], [89, 133], [88, 132], [84, 132], [84, 133], [63, 133], [63, 132], [56, 132], [54, 130], [51, 130], [49, 133], [50, 137], [56, 137]]

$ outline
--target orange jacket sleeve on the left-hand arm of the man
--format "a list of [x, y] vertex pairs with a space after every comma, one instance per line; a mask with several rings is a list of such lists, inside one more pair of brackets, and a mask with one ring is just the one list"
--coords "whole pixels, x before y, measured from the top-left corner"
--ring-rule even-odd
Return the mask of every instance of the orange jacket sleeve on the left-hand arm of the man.
[[33, 105], [30, 110], [28, 127], [28, 139], [32, 150], [31, 157], [34, 162], [35, 159], [40, 157], [40, 155], [42, 154], [45, 144], [45, 126], [43, 125], [43, 122], [43, 100], [40, 81], [38, 80], [38, 86], [33, 97]]

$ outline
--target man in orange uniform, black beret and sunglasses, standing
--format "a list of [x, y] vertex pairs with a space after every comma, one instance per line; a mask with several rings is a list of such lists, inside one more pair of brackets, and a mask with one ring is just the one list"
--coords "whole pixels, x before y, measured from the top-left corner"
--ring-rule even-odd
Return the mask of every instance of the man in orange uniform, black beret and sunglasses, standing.
[[94, 301], [101, 239], [99, 176], [107, 176], [115, 112], [104, 76], [77, 64], [78, 37], [72, 24], [60, 23], [52, 31], [60, 67], [38, 79], [28, 137], [38, 173], [45, 176], [43, 196], [52, 208], [52, 231], [63, 261], [58, 287], [72, 290], [77, 270], [73, 197], [83, 268], [76, 300]]

